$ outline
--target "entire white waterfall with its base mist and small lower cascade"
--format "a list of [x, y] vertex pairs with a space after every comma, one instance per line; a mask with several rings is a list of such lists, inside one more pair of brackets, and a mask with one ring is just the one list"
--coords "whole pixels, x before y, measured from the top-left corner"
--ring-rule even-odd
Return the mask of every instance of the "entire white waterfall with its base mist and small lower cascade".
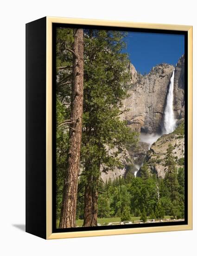
[[[175, 69], [173, 70], [173, 73], [172, 73], [172, 77], [170, 80], [170, 85], [167, 93], [167, 98], [166, 98], [162, 133], [161, 134], [157, 134], [157, 133], [152, 133], [152, 134], [141, 133], [140, 134], [140, 141], [148, 143], [149, 144], [148, 149], [150, 149], [153, 143], [157, 141], [162, 135], [170, 134], [176, 128], [176, 120], [174, 119], [174, 111], [173, 111], [174, 71]], [[135, 168], [137, 169], [134, 172], [135, 177], [142, 165], [143, 165], [143, 162], [141, 163], [141, 165], [135, 164]]]

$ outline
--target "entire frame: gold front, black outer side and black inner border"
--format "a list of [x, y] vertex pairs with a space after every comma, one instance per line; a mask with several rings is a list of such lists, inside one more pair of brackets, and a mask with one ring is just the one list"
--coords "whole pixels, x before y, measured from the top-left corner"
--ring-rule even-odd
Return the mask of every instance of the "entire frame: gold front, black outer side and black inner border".
[[[184, 35], [184, 221], [129, 225], [56, 226], [57, 27]], [[192, 27], [109, 20], [44, 17], [26, 24], [26, 232], [44, 239], [109, 236], [192, 229]]]

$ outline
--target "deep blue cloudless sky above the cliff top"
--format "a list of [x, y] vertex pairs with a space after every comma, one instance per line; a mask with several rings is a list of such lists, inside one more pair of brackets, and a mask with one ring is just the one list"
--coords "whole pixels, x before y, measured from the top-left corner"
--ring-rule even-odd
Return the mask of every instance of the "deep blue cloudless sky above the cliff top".
[[160, 63], [176, 65], [184, 54], [184, 35], [128, 32], [125, 41], [124, 52], [141, 74]]

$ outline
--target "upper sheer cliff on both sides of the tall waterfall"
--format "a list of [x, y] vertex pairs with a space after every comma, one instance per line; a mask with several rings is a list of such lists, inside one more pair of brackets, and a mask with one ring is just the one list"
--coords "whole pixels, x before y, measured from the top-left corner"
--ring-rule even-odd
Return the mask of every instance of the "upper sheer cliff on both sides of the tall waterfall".
[[[130, 65], [131, 85], [129, 97], [123, 101], [128, 109], [121, 118], [138, 132], [160, 133], [163, 125], [165, 101], [174, 66], [159, 64], [147, 75], [138, 74]], [[174, 111], [176, 119], [184, 117], [184, 56], [175, 68]]]

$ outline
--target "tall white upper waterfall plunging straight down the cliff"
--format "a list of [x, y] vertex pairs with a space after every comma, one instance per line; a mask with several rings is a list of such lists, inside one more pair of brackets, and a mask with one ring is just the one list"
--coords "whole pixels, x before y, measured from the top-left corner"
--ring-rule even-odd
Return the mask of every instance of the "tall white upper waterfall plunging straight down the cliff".
[[168, 89], [168, 95], [166, 100], [166, 106], [164, 111], [164, 125], [163, 134], [169, 134], [176, 128], [176, 121], [174, 119], [173, 112], [173, 89], [174, 89], [174, 70], [170, 79], [170, 85]]

